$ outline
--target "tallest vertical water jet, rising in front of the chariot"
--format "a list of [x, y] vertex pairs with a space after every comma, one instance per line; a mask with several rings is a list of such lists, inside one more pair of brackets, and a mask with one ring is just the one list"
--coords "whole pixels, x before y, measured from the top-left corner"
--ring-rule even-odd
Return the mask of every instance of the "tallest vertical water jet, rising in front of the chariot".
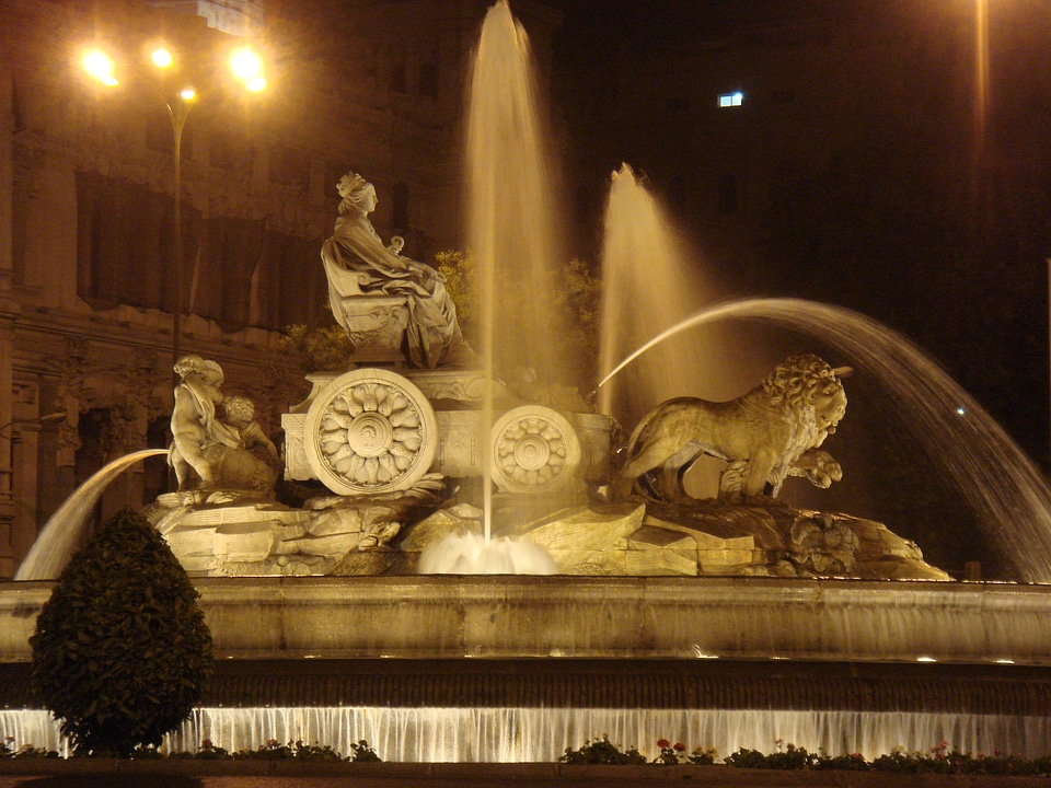
[[466, 135], [467, 245], [475, 262], [481, 355], [488, 381], [478, 437], [486, 538], [493, 511], [493, 378], [524, 367], [563, 380], [568, 369], [556, 344], [565, 332], [550, 301], [553, 266], [564, 260], [536, 94], [529, 38], [501, 0], [482, 25]]

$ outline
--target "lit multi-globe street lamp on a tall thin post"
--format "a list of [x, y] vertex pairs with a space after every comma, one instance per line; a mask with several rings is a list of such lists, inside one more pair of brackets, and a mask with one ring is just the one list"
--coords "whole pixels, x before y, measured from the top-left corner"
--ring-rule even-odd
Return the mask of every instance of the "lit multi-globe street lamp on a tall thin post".
[[[150, 53], [150, 62], [154, 73], [171, 74], [177, 69], [175, 55], [171, 49], [159, 46]], [[230, 72], [234, 79], [240, 82], [245, 90], [252, 93], [259, 93], [266, 89], [266, 77], [264, 76], [263, 59], [247, 46], [234, 49], [230, 55]], [[101, 49], [90, 49], [81, 58], [81, 66], [93, 80], [101, 82], [107, 88], [116, 88], [120, 81], [116, 77], [116, 67], [113, 59]], [[174, 85], [178, 84], [177, 89]], [[183, 264], [183, 211], [182, 211], [182, 149], [183, 149], [183, 129], [186, 126], [186, 118], [189, 111], [197, 101], [197, 91], [193, 84], [187, 82], [175, 83], [170, 79], [160, 82], [151, 82], [157, 89], [168, 107], [168, 114], [172, 120], [172, 141], [174, 158], [174, 233], [172, 247], [175, 255], [175, 304], [172, 315], [172, 364], [178, 361], [181, 356], [182, 337], [182, 315], [183, 315], [183, 290], [184, 290], [184, 264]]]

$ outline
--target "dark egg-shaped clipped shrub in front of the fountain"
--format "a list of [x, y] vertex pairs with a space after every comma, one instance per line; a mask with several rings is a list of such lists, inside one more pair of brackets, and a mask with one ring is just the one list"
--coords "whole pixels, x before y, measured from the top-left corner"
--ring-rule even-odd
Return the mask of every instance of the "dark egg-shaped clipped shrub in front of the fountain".
[[211, 636], [164, 538], [126, 509], [62, 571], [30, 639], [33, 680], [77, 754], [157, 746], [199, 703]]

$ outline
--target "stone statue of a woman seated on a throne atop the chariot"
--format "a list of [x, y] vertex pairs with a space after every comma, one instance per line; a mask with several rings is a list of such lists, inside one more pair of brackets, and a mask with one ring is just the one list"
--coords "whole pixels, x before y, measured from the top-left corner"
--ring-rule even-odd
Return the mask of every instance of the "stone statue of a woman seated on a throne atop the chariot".
[[463, 339], [457, 308], [441, 275], [402, 256], [401, 237], [395, 236], [385, 246], [372, 227], [369, 213], [377, 205], [372, 184], [347, 173], [338, 190], [343, 198], [339, 217], [332, 237], [322, 246], [321, 259], [328, 278], [332, 313], [350, 339], [383, 331], [391, 320], [397, 320], [390, 317], [392, 313], [380, 313], [378, 297], [389, 297], [394, 310], [407, 310], [403, 325], [396, 326], [394, 341], [403, 344], [412, 367], [474, 366], [474, 354]]

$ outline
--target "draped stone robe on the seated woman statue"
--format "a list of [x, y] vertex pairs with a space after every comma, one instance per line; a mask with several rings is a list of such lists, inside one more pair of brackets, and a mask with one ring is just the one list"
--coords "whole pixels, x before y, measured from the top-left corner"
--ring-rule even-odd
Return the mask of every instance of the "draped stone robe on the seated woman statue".
[[321, 248], [328, 277], [332, 313], [348, 333], [339, 301], [347, 296], [381, 292], [403, 296], [408, 303], [406, 345], [414, 367], [434, 369], [464, 346], [457, 322], [457, 308], [437, 276], [427, 268], [391, 252], [365, 213], [343, 213]]

